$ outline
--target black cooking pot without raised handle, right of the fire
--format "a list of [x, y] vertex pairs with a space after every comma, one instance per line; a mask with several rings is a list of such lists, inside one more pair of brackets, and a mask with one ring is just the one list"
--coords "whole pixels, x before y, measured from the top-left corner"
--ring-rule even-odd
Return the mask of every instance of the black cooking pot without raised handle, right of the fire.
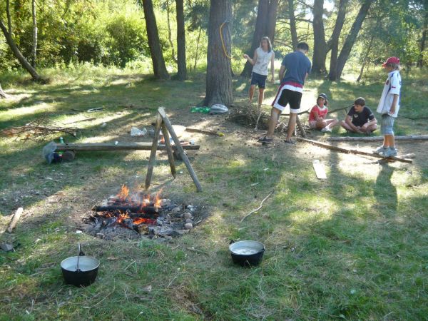
[[230, 241], [230, 255], [233, 263], [241, 266], [255, 266], [262, 262], [265, 253], [265, 245], [258, 241], [243, 240], [235, 242]]

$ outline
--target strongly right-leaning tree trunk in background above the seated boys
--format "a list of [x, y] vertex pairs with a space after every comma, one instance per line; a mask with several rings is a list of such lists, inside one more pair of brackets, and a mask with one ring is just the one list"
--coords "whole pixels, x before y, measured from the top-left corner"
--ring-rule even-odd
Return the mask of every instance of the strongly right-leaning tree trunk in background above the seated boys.
[[355, 18], [354, 24], [352, 24], [350, 33], [347, 35], [342, 50], [340, 51], [339, 58], [337, 58], [336, 75], [332, 75], [334, 76], [332, 78], [334, 78], [335, 81], [340, 80], [340, 76], [342, 76], [343, 68], [345, 67], [347, 58], [350, 56], [350, 52], [352, 50], [352, 46], [354, 46], [355, 40], [357, 39], [358, 33], [360, 32], [362, 22], [367, 16], [367, 12], [369, 11], [373, 2], [374, 0], [366, 0], [362, 4], [360, 11]]

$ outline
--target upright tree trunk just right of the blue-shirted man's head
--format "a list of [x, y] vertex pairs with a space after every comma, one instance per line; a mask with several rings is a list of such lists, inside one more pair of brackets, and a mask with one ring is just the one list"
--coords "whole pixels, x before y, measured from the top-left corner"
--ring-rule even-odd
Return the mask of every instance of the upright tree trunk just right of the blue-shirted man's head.
[[312, 27], [314, 29], [314, 54], [312, 56], [312, 73], [325, 73], [325, 58], [327, 56], [327, 43], [325, 42], [324, 0], [315, 0], [312, 9], [314, 16]]

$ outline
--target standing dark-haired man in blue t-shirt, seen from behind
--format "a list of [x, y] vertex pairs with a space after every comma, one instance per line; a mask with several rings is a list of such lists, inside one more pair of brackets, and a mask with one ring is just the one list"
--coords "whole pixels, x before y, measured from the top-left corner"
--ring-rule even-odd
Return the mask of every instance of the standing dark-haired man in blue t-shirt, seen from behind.
[[303, 85], [311, 68], [311, 62], [306, 56], [308, 51], [309, 46], [305, 42], [301, 42], [297, 44], [296, 51], [287, 54], [282, 60], [280, 68], [281, 85], [272, 103], [269, 129], [264, 137], [259, 138], [260, 143], [272, 143], [273, 131], [275, 131], [278, 118], [288, 103], [290, 103], [290, 119], [288, 120], [285, 143], [295, 143], [291, 140], [291, 136], [296, 126], [297, 113], [300, 111]]

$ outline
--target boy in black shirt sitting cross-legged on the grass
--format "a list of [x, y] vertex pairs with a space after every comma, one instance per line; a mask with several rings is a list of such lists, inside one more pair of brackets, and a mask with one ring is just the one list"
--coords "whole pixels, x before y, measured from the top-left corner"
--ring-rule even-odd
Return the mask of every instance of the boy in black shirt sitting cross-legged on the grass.
[[370, 108], [365, 106], [365, 98], [357, 98], [351, 107], [345, 121], [340, 125], [350, 133], [365, 133], [367, 136], [376, 131], [377, 120]]

